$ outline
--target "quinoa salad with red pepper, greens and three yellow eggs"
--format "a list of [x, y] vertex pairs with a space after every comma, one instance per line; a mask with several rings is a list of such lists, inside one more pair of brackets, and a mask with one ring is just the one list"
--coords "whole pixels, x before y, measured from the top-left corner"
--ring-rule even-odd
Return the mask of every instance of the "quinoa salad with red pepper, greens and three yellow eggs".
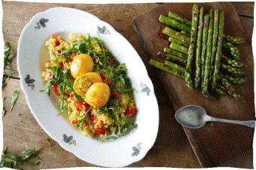
[[45, 42], [41, 92], [58, 97], [58, 108], [84, 135], [99, 141], [116, 139], [136, 129], [137, 112], [126, 65], [100, 38], [69, 34], [68, 41], [51, 35]]

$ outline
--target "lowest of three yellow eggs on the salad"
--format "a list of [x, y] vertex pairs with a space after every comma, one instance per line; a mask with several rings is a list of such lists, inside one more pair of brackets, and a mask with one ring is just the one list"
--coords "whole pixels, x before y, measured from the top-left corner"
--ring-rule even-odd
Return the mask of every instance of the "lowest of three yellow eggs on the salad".
[[85, 102], [94, 108], [102, 108], [109, 99], [110, 90], [106, 83], [93, 83], [87, 90]]

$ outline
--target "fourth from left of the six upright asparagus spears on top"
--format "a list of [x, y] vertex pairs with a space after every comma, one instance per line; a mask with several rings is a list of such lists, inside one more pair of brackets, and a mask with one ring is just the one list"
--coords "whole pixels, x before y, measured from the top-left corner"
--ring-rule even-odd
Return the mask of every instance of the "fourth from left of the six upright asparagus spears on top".
[[209, 71], [211, 68], [211, 56], [212, 56], [212, 27], [213, 27], [213, 17], [212, 9], [209, 14], [209, 28], [207, 37], [207, 49], [206, 49], [206, 63], [205, 71], [203, 77], [203, 95], [209, 97]]

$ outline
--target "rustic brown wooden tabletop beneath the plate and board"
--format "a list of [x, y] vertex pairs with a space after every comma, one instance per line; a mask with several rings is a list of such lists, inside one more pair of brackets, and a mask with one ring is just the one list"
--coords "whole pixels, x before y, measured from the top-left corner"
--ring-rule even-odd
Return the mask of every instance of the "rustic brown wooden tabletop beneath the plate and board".
[[[157, 7], [157, 5], [159, 4], [68, 5], [3, 2], [3, 35], [5, 41], [16, 44], [23, 27], [36, 13], [59, 6], [78, 8], [96, 15], [101, 20], [105, 20], [114, 26], [114, 29], [130, 41], [142, 59], [145, 60], [146, 54], [140, 44], [139, 38], [136, 36], [136, 32], [133, 30], [132, 19], [139, 14], [143, 14]], [[254, 3], [236, 2], [233, 5], [239, 17], [241, 17], [248, 34], [252, 35]], [[148, 64], [145, 63], [145, 65], [148, 68]], [[14, 58], [12, 67], [17, 68], [16, 58]], [[162, 85], [158, 83], [158, 78], [154, 70], [148, 69], [148, 74], [154, 83], [155, 93], [160, 106], [160, 129], [157, 141], [147, 156], [142, 161], [133, 163], [130, 166], [200, 168], [182, 127], [175, 121], [175, 111], [163, 91]], [[25, 149], [36, 147], [39, 150], [38, 156], [41, 157], [41, 163], [30, 167], [32, 169], [92, 166], [78, 159], [72, 153], [63, 150], [55, 141], [52, 141], [53, 144], [51, 146], [47, 144], [47, 134], [38, 125], [26, 104], [25, 96], [20, 88], [19, 75], [11, 77], [7, 87], [3, 90], [3, 96], [6, 96], [5, 108], [7, 110], [11, 107], [11, 93], [14, 90], [20, 91], [20, 98], [14, 110], [6, 113], [3, 117], [4, 147], [8, 147], [9, 153], [19, 155]], [[237, 159], [224, 162], [223, 166], [252, 168], [252, 153], [245, 153]]]

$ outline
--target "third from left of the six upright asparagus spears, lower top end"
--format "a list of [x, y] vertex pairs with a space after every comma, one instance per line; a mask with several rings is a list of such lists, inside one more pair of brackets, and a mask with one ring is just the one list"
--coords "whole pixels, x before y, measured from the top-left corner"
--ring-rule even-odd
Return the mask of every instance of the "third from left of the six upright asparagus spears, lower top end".
[[[207, 47], [207, 36], [208, 36], [208, 26], [209, 26], [209, 14], [206, 14], [203, 18], [203, 42], [202, 42], [202, 52], [201, 52], [201, 79], [205, 74], [205, 60], [206, 60], [206, 47]], [[203, 85], [203, 83], [201, 83]], [[202, 86], [203, 89], [203, 86]]]

